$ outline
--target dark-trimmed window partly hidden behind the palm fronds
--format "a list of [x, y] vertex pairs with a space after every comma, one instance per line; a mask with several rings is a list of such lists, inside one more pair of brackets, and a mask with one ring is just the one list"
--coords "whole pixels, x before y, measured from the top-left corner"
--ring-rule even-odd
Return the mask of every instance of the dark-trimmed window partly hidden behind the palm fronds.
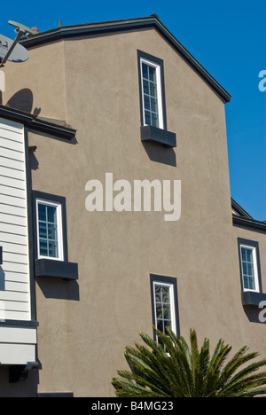
[[176, 278], [158, 275], [151, 275], [150, 278], [153, 325], [162, 333], [167, 333], [166, 327], [170, 327], [179, 335]]

